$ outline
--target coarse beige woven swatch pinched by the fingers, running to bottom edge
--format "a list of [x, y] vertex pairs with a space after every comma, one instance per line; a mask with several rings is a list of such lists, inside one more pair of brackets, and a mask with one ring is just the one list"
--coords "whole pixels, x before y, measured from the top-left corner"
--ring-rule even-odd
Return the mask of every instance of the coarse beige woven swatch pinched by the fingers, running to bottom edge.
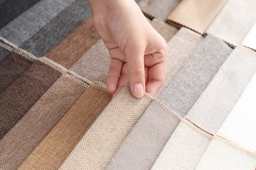
[[146, 94], [133, 97], [126, 86], [98, 116], [60, 169], [104, 169], [125, 137], [150, 105]]

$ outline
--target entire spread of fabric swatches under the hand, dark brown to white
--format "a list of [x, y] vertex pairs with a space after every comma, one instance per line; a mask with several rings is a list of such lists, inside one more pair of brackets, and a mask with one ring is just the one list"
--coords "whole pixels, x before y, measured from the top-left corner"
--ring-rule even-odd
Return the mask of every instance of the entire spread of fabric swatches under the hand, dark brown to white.
[[112, 99], [87, 1], [0, 0], [0, 169], [256, 168], [255, 0], [137, 3], [165, 82]]

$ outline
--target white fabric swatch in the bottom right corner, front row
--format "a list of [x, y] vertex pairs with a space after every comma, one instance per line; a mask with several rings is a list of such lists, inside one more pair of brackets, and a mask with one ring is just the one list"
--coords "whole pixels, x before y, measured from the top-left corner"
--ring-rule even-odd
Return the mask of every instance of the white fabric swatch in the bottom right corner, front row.
[[196, 169], [232, 169], [249, 170], [255, 169], [255, 154], [247, 154], [239, 148], [224, 143], [221, 139], [213, 139], [209, 144], [205, 154], [198, 163]]

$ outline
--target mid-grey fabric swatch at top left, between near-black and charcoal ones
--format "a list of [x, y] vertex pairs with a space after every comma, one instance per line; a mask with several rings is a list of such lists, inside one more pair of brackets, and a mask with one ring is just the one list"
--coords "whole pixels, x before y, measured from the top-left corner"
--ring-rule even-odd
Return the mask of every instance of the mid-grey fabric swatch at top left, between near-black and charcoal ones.
[[20, 46], [75, 0], [42, 0], [0, 29], [0, 36]]

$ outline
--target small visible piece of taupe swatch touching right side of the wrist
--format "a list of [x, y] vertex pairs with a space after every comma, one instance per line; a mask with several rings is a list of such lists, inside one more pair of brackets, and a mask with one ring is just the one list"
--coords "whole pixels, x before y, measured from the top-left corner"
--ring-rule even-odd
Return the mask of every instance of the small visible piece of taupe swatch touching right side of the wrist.
[[165, 39], [166, 42], [169, 42], [173, 35], [177, 33], [178, 29], [176, 27], [173, 27], [172, 25], [169, 25], [161, 20], [158, 20], [157, 18], [154, 18], [150, 24], [160, 33], [160, 35]]

